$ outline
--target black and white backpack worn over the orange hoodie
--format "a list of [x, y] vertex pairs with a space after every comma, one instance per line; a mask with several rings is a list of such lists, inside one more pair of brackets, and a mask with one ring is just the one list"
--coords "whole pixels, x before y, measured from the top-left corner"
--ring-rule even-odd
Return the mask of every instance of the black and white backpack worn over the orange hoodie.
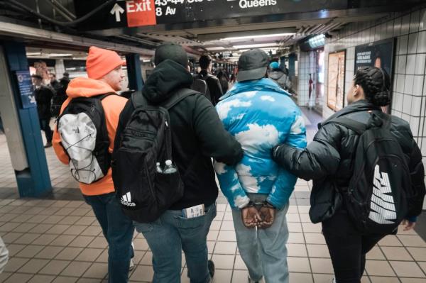
[[70, 157], [72, 177], [83, 184], [102, 179], [111, 167], [102, 99], [111, 94], [77, 97], [56, 120], [61, 145]]

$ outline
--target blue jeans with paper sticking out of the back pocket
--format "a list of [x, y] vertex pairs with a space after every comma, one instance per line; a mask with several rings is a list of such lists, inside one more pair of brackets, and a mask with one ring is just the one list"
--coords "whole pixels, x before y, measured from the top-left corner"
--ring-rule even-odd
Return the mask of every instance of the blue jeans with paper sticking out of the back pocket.
[[203, 216], [183, 218], [182, 211], [169, 210], [153, 223], [135, 223], [136, 231], [143, 234], [153, 252], [153, 283], [180, 282], [182, 250], [190, 282], [210, 282], [207, 233], [216, 217], [216, 204], [205, 211]]

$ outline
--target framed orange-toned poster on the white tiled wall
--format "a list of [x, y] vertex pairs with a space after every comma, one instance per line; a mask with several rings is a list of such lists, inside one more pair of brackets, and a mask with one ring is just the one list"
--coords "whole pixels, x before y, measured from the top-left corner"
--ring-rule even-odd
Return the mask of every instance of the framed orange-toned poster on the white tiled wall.
[[346, 50], [329, 53], [327, 106], [333, 111], [344, 107]]

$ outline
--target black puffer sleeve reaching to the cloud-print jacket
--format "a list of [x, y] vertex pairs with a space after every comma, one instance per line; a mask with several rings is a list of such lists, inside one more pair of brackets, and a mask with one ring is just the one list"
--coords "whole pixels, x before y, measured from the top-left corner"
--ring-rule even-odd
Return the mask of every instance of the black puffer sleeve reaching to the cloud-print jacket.
[[321, 179], [335, 174], [340, 155], [337, 150], [341, 133], [335, 124], [328, 124], [318, 131], [307, 148], [299, 149], [281, 144], [273, 149], [273, 160], [302, 179]]

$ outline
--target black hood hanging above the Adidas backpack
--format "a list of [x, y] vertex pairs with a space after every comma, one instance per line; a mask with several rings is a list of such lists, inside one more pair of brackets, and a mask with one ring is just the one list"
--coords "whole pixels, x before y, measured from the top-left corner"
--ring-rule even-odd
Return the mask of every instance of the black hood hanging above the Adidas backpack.
[[192, 75], [179, 63], [167, 59], [158, 64], [143, 86], [142, 94], [152, 104], [160, 104], [183, 87], [190, 87]]

